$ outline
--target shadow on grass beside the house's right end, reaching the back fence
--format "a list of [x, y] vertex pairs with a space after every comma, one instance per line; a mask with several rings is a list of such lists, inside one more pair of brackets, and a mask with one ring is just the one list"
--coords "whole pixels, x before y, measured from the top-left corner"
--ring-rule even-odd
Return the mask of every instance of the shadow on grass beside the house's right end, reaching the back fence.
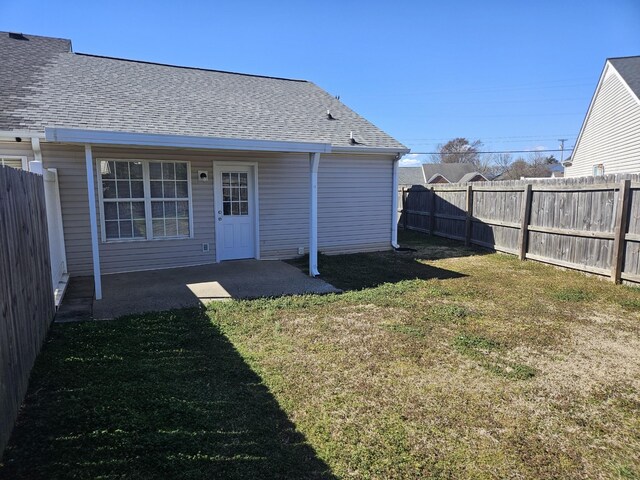
[[[424, 262], [489, 253], [467, 248], [461, 242], [417, 232], [401, 232], [399, 241], [402, 247], [408, 247], [408, 249], [348, 255], [320, 254], [318, 256], [320, 276], [323, 280], [345, 291], [373, 288], [383, 283], [397, 283], [403, 280], [461, 278], [465, 275]], [[291, 260], [290, 263], [307, 271], [309, 256]]]

